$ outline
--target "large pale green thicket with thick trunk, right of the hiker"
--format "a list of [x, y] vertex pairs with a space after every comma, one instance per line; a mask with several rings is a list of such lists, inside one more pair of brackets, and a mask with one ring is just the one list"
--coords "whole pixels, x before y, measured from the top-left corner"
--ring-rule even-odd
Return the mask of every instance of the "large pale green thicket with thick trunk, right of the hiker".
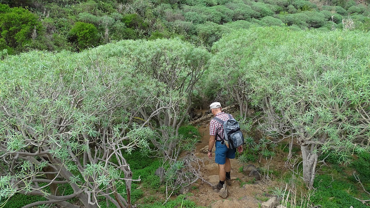
[[211, 77], [239, 103], [240, 116], [258, 106], [266, 135], [296, 140], [312, 187], [320, 154], [349, 162], [369, 151], [369, 41], [361, 32], [239, 30], [213, 45]]

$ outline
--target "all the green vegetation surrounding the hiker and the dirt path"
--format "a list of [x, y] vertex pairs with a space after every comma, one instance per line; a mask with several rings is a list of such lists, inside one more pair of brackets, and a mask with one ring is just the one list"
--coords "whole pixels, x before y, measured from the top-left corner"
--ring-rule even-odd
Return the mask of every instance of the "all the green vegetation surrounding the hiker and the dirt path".
[[[205, 100], [237, 104], [239, 160], [264, 178], [312, 206], [369, 202], [365, 4], [1, 2], [0, 206], [195, 207], [171, 196], [201, 175], [187, 122]], [[278, 148], [293, 176], [270, 169]]]

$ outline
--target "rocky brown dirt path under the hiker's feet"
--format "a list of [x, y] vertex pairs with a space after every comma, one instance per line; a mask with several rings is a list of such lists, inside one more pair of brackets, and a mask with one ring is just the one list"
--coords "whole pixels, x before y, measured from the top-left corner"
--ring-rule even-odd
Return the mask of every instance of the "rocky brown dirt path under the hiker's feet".
[[[215, 163], [215, 155], [213, 147], [213, 158], [212, 160], [207, 156], [207, 150], [201, 151], [202, 148], [208, 146], [209, 141], [209, 121], [203, 123], [198, 127], [199, 133], [201, 134], [201, 142], [196, 146], [195, 155], [201, 158], [204, 162], [202, 167], [202, 176], [205, 180], [212, 184], [216, 184], [219, 181], [218, 177], [218, 165]], [[256, 208], [258, 204], [261, 203], [260, 200], [256, 199], [263, 197], [263, 187], [260, 184], [245, 184], [241, 187], [241, 182], [249, 182], [253, 178], [246, 176], [239, 172], [239, 168], [242, 165], [238, 163], [236, 159], [231, 160], [231, 179], [232, 185], [228, 186], [228, 197], [223, 199], [219, 196], [218, 192], [212, 190], [212, 187], [206, 183], [202, 183], [198, 180], [196, 184], [193, 185], [193, 190], [191, 191], [194, 195], [189, 197], [190, 200], [195, 201], [197, 205], [212, 208]], [[239, 180], [235, 180], [239, 178]], [[194, 186], [196, 188], [194, 188]]]

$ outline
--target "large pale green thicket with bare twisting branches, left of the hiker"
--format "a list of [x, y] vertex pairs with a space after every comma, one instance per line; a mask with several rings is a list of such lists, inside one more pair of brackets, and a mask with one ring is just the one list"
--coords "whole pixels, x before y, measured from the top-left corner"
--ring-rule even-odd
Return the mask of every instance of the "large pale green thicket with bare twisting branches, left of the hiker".
[[[1, 204], [21, 193], [45, 198], [26, 207], [76, 207], [71, 199], [98, 207], [102, 198], [129, 206], [125, 151], [148, 152], [151, 141], [172, 158], [175, 150], [194, 148], [177, 132], [209, 56], [180, 40], [157, 40], [6, 57], [0, 62]], [[63, 195], [60, 184], [73, 193]]]

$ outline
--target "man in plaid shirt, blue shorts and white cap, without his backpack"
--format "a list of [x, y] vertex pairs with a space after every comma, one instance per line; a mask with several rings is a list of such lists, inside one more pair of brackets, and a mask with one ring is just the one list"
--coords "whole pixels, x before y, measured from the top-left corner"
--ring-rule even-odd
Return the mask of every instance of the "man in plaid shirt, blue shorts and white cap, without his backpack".
[[[229, 119], [229, 114], [222, 112], [221, 104], [219, 102], [214, 102], [210, 106], [213, 116], [226, 121]], [[230, 159], [235, 158], [236, 149], [229, 149], [224, 141], [223, 125], [219, 121], [212, 119], [209, 123], [209, 143], [208, 143], [208, 157], [212, 159], [212, 148], [216, 143], [215, 151], [215, 162], [218, 164], [218, 176], [219, 183], [213, 185], [213, 189], [221, 190], [223, 184], [231, 185], [230, 177]], [[238, 147], [239, 153], [242, 153], [243, 147], [240, 145]]]

